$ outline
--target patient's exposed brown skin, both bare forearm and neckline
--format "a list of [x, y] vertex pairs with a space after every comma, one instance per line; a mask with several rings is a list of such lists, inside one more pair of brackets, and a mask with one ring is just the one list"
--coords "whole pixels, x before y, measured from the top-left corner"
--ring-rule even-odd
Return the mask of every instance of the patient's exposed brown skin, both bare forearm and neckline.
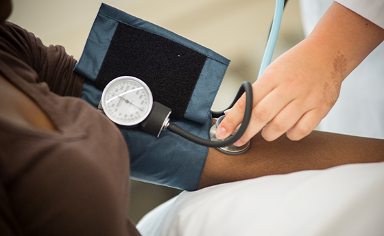
[[[10, 15], [11, 1], [0, 0], [0, 22]], [[54, 131], [49, 118], [18, 88], [0, 76], [0, 116], [25, 127]], [[10, 99], [12, 98], [12, 99]], [[13, 106], [12, 106], [13, 105]], [[28, 110], [25, 115], [26, 109]], [[31, 117], [30, 114], [35, 114]], [[347, 163], [384, 161], [384, 140], [313, 131], [300, 141], [285, 135], [267, 142], [256, 134], [250, 149], [241, 155], [226, 155], [210, 148], [198, 189], [251, 179], [269, 174], [287, 174], [300, 170], [322, 170]]]

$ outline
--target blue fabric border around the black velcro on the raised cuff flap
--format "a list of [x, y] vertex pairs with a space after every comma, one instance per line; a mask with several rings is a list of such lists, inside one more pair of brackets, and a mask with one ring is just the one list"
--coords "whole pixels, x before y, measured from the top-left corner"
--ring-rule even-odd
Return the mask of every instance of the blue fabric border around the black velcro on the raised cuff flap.
[[[115, 32], [121, 24], [145, 31], [156, 37], [165, 38], [174, 44], [178, 44], [180, 47], [186, 47], [206, 57], [201, 72], [198, 74], [197, 83], [195, 83], [193, 92], [191, 92], [191, 99], [187, 101], [187, 107], [183, 116], [188, 120], [203, 124], [206, 118], [210, 116], [213, 101], [230, 60], [215, 53], [211, 49], [202, 47], [200, 44], [178, 36], [167, 29], [143, 21], [140, 18], [131, 16], [130, 14], [112, 8], [109, 5], [104, 3], [101, 5], [88, 36], [88, 40], [86, 41], [82, 56], [75, 66], [75, 72], [92, 81], [97, 79], [100, 69], [103, 67], [103, 64], [106, 64], [106, 56], [108, 55], [110, 44], [114, 40]], [[130, 38], [131, 36], [127, 35], [125, 37]], [[161, 47], [159, 48], [161, 49]], [[130, 55], [129, 51], [119, 51], [119, 53], [124, 53], [127, 57], [140, 56]], [[110, 57], [108, 57], [108, 60], [109, 59]], [[145, 61], [145, 58], [139, 58], [138, 60]], [[183, 68], [173, 68], [174, 71], [182, 69]], [[145, 81], [145, 78], [143, 77], [132, 74], [131, 76], [139, 77], [139, 79]], [[154, 76], [156, 76], [156, 73]], [[147, 81], [145, 81], [145, 83], [147, 83]], [[151, 88], [150, 85], [148, 86]], [[151, 90], [153, 90], [153, 88], [151, 88]], [[156, 93], [156, 91], [154, 91], [154, 93]], [[170, 108], [177, 109], [178, 107]]]

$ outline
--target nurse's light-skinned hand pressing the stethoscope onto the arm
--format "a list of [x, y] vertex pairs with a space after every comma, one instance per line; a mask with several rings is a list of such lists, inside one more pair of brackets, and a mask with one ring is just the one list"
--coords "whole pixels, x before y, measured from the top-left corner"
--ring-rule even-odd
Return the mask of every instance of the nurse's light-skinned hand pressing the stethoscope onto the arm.
[[[311, 46], [317, 44], [312, 40]], [[302, 42], [281, 55], [252, 85], [252, 118], [243, 137], [235, 144], [248, 142], [262, 129], [267, 141], [287, 133], [290, 140], [300, 140], [320, 123], [335, 104], [341, 81], [346, 77], [346, 59], [337, 55], [324, 61], [326, 53], [307, 50]], [[218, 137], [227, 137], [242, 119], [245, 96], [226, 112], [217, 129]]]

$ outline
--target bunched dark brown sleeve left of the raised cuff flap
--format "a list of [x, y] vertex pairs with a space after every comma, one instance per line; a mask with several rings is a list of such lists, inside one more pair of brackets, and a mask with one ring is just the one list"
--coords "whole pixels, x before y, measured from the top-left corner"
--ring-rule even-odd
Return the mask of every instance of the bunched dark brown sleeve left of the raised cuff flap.
[[8, 43], [5, 50], [36, 71], [36, 82], [48, 83], [52, 92], [62, 96], [81, 95], [84, 77], [73, 72], [76, 60], [64, 47], [46, 47], [40, 38], [13, 23], [4, 23], [0, 30]]

